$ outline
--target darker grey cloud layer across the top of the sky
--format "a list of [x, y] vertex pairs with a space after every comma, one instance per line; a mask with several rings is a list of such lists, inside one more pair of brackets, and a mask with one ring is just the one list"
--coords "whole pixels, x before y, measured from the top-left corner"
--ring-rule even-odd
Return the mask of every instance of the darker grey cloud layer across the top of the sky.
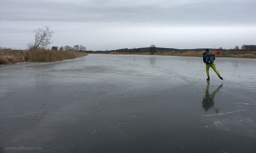
[[1, 20], [160, 22], [168, 25], [255, 24], [256, 2], [245, 1], [28, 1], [1, 0]]

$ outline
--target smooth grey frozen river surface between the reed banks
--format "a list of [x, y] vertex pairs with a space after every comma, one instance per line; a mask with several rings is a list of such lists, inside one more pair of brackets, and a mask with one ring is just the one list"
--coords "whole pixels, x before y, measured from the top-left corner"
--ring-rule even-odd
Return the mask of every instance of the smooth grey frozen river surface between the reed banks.
[[224, 80], [202, 57], [0, 65], [0, 152], [255, 152], [256, 59], [214, 63]]

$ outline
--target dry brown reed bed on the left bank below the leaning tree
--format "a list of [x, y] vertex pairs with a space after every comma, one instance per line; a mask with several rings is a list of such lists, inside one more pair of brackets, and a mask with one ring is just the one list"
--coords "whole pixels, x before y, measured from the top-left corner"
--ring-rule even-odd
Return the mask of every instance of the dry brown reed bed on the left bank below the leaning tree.
[[45, 49], [12, 50], [0, 49], [0, 64], [15, 64], [18, 62], [54, 62], [73, 59], [88, 55], [74, 50], [58, 51]]

